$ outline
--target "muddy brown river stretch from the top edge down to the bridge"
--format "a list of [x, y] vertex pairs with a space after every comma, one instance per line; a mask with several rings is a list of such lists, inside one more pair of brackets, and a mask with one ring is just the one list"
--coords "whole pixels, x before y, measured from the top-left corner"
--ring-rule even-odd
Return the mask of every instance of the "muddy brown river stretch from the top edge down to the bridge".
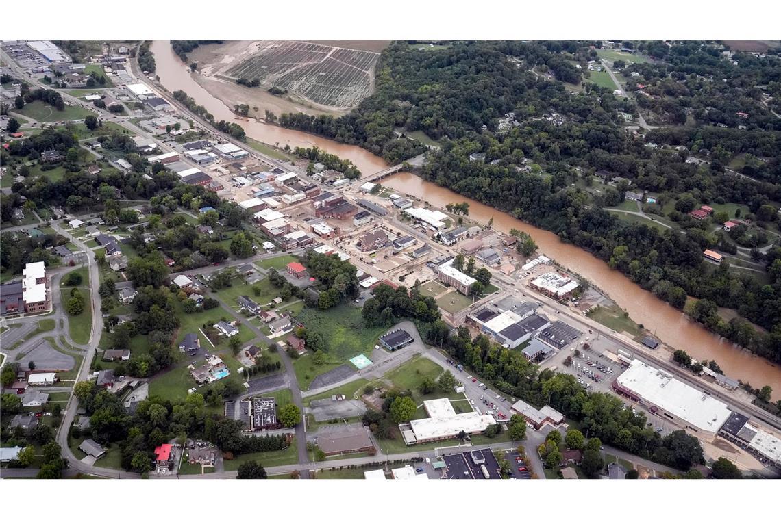
[[152, 41], [150, 50], [155, 55], [155, 73], [160, 77], [160, 83], [163, 87], [166, 87], [170, 92], [184, 90], [188, 96], [211, 112], [217, 121], [224, 119], [238, 123], [252, 139], [271, 145], [279, 143], [280, 147], [284, 147], [286, 144], [289, 144], [291, 148], [318, 147], [327, 150], [330, 154], [337, 154], [343, 159], [349, 159], [364, 175], [380, 172], [388, 167], [382, 157], [377, 157], [361, 147], [337, 143], [310, 133], [298, 132], [298, 130], [266, 125], [266, 123], [255, 121], [255, 119], [237, 119], [237, 116], [223, 101], [209, 94], [208, 90], [196, 83], [191, 77], [190, 68], [173, 52], [171, 42]]

